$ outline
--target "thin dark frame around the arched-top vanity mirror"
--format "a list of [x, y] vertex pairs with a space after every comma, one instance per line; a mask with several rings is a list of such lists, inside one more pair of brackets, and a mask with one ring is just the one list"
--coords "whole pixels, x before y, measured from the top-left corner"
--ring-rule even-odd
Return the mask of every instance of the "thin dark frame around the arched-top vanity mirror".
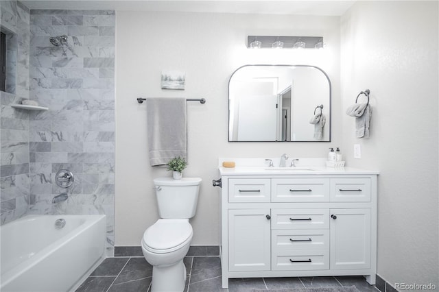
[[[327, 77], [328, 80], [328, 84], [329, 84], [329, 119], [327, 119], [327, 123], [329, 123], [329, 140], [327, 141], [230, 141], [230, 81], [232, 80], [233, 75], [235, 75], [235, 73], [237, 73], [237, 71], [239, 69], [242, 69], [244, 67], [248, 67], [248, 66], [283, 66], [283, 67], [311, 67], [311, 68], [315, 68], [318, 69], [318, 71], [322, 72], [323, 75], [325, 77]], [[227, 98], [228, 98], [228, 112], [227, 112], [227, 118], [228, 118], [228, 130], [227, 130], [227, 140], [228, 142], [238, 142], [238, 143], [248, 143], [248, 142], [268, 142], [268, 143], [272, 143], [272, 142], [276, 142], [276, 143], [289, 143], [289, 142], [295, 142], [295, 143], [300, 143], [300, 142], [331, 142], [331, 132], [332, 132], [332, 84], [331, 84], [331, 80], [329, 79], [329, 75], [323, 71], [322, 69], [320, 69], [320, 67], [318, 66], [313, 66], [313, 65], [286, 65], [286, 64], [249, 64], [249, 65], [243, 65], [240, 66], [238, 69], [236, 69], [235, 71], [233, 71], [232, 75], [230, 75], [230, 78], [228, 79], [228, 88], [227, 88]]]

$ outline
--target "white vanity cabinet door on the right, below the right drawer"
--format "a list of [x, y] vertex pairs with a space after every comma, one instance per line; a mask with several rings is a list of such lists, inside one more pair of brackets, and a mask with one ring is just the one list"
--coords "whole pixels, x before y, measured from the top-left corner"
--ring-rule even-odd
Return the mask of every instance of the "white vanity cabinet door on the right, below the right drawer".
[[331, 269], [370, 269], [370, 209], [331, 209]]

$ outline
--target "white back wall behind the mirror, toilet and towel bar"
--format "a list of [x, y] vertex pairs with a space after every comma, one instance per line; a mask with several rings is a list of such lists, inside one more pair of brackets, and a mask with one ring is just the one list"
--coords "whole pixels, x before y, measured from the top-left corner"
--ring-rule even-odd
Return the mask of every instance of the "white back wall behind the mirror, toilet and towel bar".
[[[191, 220], [193, 245], [219, 244], [218, 157], [326, 157], [340, 146], [340, 17], [174, 12], [117, 12], [116, 246], [139, 245], [158, 218], [150, 167], [146, 107], [137, 97], [205, 97], [189, 102], [186, 176], [203, 179]], [[324, 36], [325, 50], [249, 50], [247, 35]], [[333, 84], [333, 143], [228, 143], [228, 79], [244, 64], [311, 64]], [[186, 72], [186, 89], [161, 90], [162, 70]]]

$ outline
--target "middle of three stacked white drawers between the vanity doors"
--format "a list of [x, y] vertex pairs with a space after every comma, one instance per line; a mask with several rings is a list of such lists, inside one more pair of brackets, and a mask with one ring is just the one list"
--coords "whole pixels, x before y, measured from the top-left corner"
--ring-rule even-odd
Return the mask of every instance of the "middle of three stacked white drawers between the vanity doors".
[[327, 250], [329, 230], [272, 230], [272, 249], [281, 250]]

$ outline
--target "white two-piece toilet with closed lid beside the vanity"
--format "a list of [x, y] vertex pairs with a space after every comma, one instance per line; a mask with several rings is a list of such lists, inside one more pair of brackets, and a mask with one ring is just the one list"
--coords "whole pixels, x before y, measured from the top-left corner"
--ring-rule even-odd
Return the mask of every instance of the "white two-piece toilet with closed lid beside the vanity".
[[151, 291], [181, 292], [185, 289], [183, 263], [193, 231], [189, 218], [195, 215], [201, 178], [156, 178], [158, 219], [143, 234], [142, 251], [152, 265]]

